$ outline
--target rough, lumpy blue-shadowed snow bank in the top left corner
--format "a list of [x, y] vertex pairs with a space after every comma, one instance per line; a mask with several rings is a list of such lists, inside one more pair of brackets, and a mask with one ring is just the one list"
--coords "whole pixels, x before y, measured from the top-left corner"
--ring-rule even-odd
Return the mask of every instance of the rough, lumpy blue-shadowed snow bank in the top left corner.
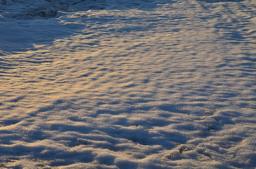
[[38, 0], [38, 1], [21, 1], [21, 0], [1, 0], [0, 15], [6, 17], [56, 17], [58, 11], [71, 12], [77, 11], [77, 6], [83, 6], [84, 10], [102, 9], [97, 6], [96, 1], [91, 0]]

